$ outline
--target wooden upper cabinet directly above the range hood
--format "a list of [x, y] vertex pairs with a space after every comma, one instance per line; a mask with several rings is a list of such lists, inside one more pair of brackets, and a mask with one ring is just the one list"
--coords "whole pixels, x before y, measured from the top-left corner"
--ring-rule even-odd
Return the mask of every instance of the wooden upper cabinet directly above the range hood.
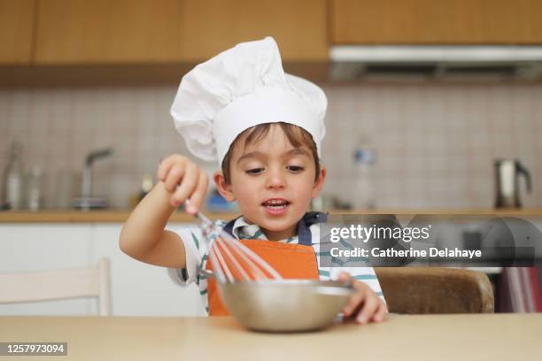
[[330, 0], [335, 44], [540, 44], [540, 0]]

